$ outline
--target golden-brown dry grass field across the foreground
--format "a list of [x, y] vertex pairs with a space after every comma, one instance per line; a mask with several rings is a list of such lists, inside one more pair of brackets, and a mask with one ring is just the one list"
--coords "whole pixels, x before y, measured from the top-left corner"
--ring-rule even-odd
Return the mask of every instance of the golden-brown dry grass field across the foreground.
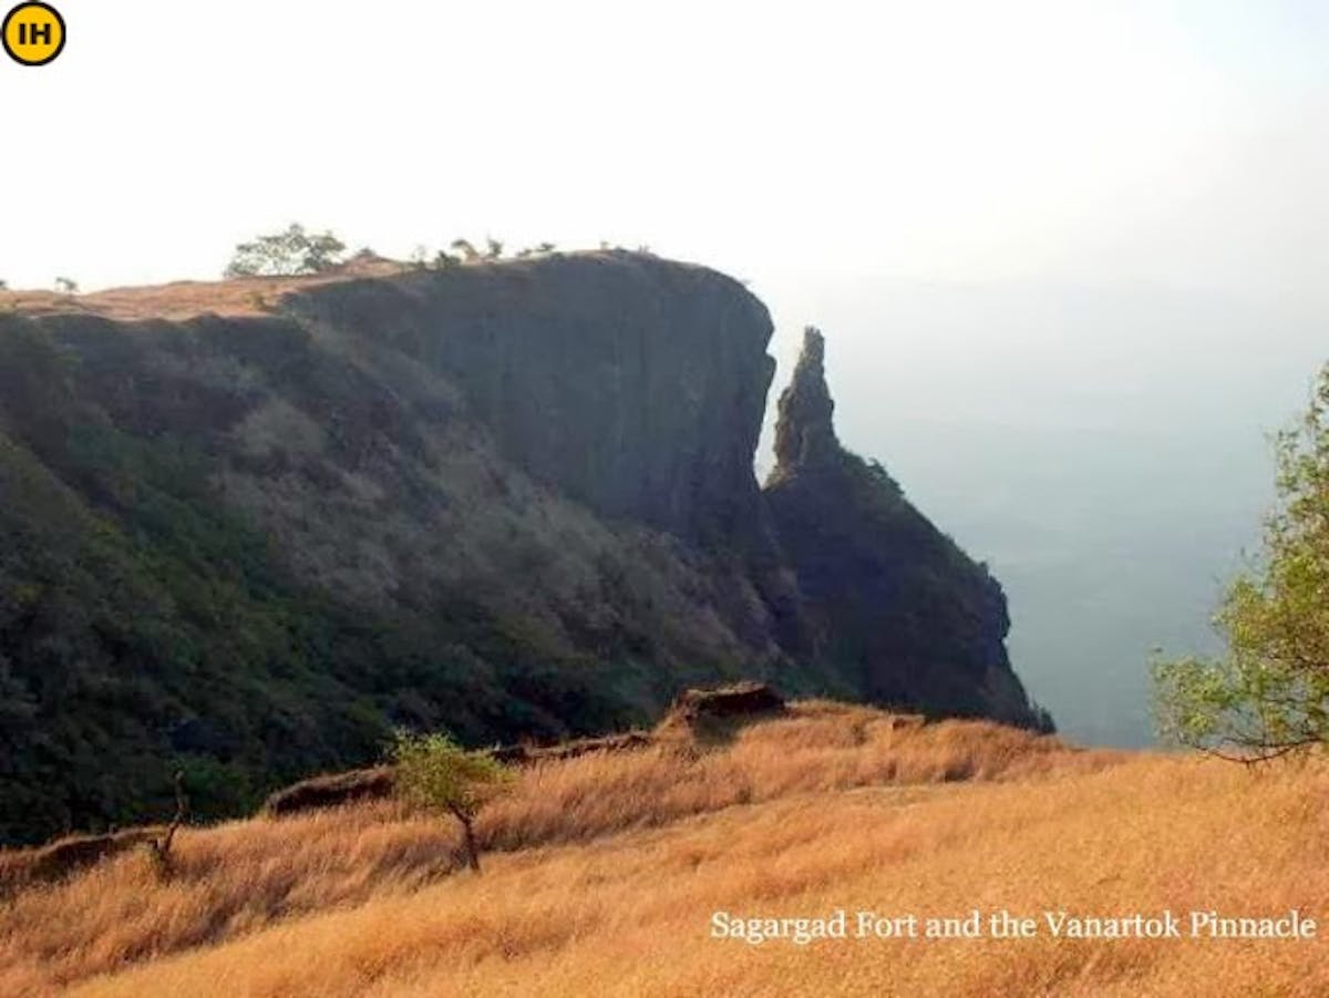
[[[829, 703], [541, 763], [482, 816], [191, 829], [0, 902], [3, 995], [1329, 995], [1329, 765], [1249, 772]], [[743, 917], [1297, 908], [1314, 940], [711, 938]]]

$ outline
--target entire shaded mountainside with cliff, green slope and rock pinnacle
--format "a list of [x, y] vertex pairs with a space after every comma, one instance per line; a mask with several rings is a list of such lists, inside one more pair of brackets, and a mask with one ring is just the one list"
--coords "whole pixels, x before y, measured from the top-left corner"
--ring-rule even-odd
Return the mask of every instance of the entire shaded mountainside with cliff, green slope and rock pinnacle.
[[264, 312], [0, 314], [0, 841], [169, 813], [177, 765], [229, 815], [392, 724], [591, 734], [744, 675], [1030, 723], [999, 589], [840, 450], [820, 342], [759, 489], [736, 282], [222, 287]]

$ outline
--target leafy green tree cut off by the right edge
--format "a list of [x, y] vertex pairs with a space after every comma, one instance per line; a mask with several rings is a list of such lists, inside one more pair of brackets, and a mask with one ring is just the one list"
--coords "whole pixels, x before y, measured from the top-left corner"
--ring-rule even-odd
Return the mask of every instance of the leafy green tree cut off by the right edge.
[[1162, 732], [1243, 760], [1329, 746], [1329, 364], [1275, 450], [1264, 550], [1215, 618], [1227, 656], [1154, 666]]

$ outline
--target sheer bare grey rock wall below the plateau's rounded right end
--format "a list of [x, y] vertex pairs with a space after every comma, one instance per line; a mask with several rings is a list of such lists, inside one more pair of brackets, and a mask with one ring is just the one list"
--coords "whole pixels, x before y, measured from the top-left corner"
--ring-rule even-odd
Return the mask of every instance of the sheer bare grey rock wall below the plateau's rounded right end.
[[756, 518], [772, 328], [731, 278], [613, 252], [332, 284], [291, 307], [462, 385], [504, 457], [598, 513], [711, 542]]

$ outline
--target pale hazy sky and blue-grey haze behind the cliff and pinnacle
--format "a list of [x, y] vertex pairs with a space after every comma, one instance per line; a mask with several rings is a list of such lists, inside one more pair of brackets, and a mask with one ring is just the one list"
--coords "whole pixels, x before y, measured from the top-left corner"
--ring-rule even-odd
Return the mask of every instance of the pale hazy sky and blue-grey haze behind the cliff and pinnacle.
[[750, 279], [1091, 740], [1148, 738], [1324, 360], [1324, 0], [53, 1], [64, 54], [0, 58], [0, 279], [210, 278], [292, 221]]

